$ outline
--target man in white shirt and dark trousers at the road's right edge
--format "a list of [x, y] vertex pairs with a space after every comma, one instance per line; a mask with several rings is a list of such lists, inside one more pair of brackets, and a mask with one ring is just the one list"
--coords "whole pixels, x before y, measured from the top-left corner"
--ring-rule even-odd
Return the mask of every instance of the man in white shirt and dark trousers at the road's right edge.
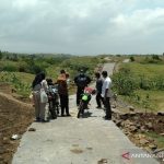
[[102, 86], [102, 97], [104, 98], [104, 105], [106, 109], [105, 119], [112, 119], [112, 107], [110, 107], [110, 97], [112, 97], [112, 80], [107, 74], [107, 71], [103, 71], [102, 75], [104, 78], [103, 86]]

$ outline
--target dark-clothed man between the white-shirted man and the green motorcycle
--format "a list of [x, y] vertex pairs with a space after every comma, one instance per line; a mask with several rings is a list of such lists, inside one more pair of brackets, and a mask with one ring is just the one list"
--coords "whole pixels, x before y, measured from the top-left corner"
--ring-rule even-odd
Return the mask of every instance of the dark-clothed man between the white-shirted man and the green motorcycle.
[[103, 79], [101, 78], [99, 72], [95, 73], [95, 78], [96, 78], [96, 103], [97, 103], [96, 108], [102, 108], [103, 97], [101, 94], [102, 94]]

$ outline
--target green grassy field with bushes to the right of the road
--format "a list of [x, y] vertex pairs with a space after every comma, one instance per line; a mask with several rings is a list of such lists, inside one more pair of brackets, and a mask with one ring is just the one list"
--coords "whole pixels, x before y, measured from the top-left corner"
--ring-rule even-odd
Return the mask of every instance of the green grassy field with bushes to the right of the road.
[[[141, 110], [163, 110], [163, 58], [154, 63], [145, 62], [145, 58], [147, 57], [138, 57], [133, 62], [119, 62], [119, 71], [121, 75], [119, 74], [117, 81], [119, 80], [118, 85], [121, 87], [119, 92], [122, 94], [120, 94], [120, 96], [122, 99], [132, 103]], [[126, 84], [124, 85], [124, 83]], [[118, 85], [116, 87], [118, 87]], [[116, 89], [116, 91], [118, 90]]]

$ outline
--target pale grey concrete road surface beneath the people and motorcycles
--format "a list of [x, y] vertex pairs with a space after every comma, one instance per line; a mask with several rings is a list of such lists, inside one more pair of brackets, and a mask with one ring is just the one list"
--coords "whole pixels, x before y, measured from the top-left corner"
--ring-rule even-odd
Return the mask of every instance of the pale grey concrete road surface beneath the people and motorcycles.
[[[112, 73], [114, 65], [105, 70]], [[157, 164], [143, 156], [112, 120], [104, 120], [92, 97], [86, 118], [77, 118], [75, 96], [70, 96], [72, 117], [58, 117], [47, 124], [33, 122], [21, 140], [12, 164]], [[125, 154], [122, 157], [121, 154]], [[132, 154], [133, 153], [133, 154]]]

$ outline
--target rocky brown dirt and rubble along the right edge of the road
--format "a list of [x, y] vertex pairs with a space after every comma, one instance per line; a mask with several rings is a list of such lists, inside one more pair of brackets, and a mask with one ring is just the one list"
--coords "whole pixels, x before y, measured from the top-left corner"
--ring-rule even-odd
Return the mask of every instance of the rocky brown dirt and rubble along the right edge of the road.
[[[164, 136], [163, 113], [115, 113], [114, 121], [136, 145], [150, 153], [159, 152], [156, 156], [163, 156], [160, 154], [164, 154], [164, 149], [155, 140]], [[152, 133], [155, 136], [153, 137]], [[164, 143], [162, 142], [161, 144], [163, 147]], [[159, 157], [157, 160], [161, 164], [164, 164], [163, 157]]]

